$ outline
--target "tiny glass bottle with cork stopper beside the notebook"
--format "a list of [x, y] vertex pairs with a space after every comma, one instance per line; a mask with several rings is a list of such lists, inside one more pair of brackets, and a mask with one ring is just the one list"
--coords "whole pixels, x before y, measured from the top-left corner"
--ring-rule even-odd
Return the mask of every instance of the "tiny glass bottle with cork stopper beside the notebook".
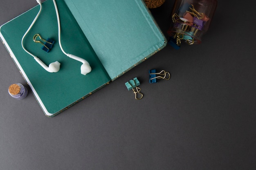
[[8, 92], [15, 99], [24, 99], [27, 97], [27, 88], [20, 83], [11, 84]]

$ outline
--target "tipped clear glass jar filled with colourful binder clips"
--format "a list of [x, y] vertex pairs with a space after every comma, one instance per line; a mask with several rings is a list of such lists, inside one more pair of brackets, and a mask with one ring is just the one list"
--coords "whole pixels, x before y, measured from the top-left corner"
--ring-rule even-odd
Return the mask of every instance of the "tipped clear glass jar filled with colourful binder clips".
[[202, 35], [209, 29], [217, 6], [217, 0], [176, 0], [171, 14], [172, 22], [168, 35], [180, 46], [200, 44]]

